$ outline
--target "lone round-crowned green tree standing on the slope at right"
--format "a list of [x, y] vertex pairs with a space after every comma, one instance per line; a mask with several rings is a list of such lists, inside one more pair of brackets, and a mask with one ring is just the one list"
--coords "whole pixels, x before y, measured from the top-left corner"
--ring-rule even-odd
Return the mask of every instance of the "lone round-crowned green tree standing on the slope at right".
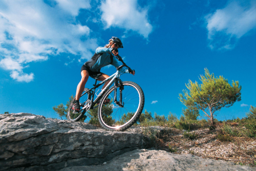
[[232, 87], [223, 76], [214, 77], [207, 69], [205, 76], [200, 75], [202, 84], [189, 80], [186, 84], [187, 90], [183, 90], [184, 95], [179, 94], [180, 101], [187, 108], [202, 110], [214, 124], [214, 113], [223, 107], [230, 107], [234, 102], [241, 100], [241, 86], [239, 82], [232, 81]]

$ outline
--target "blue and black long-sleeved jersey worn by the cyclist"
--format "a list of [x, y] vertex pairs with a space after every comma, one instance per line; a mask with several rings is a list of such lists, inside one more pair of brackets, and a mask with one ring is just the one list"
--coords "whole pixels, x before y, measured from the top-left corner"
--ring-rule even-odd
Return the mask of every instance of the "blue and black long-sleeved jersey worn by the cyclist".
[[[114, 67], [121, 66], [118, 60], [111, 52], [112, 48], [98, 47], [93, 57], [84, 63], [93, 72], [100, 72], [102, 67], [113, 65]], [[120, 72], [129, 73], [128, 69], [121, 68]]]

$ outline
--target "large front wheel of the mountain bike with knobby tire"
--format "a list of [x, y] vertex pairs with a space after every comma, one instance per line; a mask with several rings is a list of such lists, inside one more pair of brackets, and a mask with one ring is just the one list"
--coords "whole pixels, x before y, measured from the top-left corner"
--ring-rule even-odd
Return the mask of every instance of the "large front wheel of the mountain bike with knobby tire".
[[[105, 130], [124, 131], [128, 129], [137, 121], [144, 108], [144, 93], [140, 86], [132, 81], [123, 81], [122, 84], [123, 107], [114, 102], [114, 86], [105, 93], [100, 101], [98, 119]], [[120, 88], [117, 90], [118, 96]], [[117, 97], [118, 100], [119, 97]], [[107, 98], [111, 98], [111, 101], [104, 104], [104, 100]]]

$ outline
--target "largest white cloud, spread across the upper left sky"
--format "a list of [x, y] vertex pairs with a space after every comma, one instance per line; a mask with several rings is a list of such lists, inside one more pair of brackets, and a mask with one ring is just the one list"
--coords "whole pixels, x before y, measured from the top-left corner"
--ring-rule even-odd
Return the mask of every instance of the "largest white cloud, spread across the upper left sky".
[[[90, 9], [90, 0], [57, 0], [54, 6], [42, 0], [1, 1], [0, 67], [10, 70], [17, 81], [29, 82], [34, 74], [22, 71], [28, 62], [62, 52], [91, 58], [97, 39], [89, 37], [89, 27], [75, 22], [81, 8]], [[87, 40], [81, 41], [81, 36]]]

